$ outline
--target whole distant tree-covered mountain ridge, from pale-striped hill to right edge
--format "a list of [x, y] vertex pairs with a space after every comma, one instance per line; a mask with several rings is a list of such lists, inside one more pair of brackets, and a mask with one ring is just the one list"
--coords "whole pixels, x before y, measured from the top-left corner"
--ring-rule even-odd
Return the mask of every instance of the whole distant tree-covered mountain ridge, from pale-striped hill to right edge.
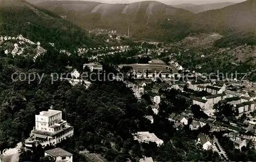
[[[190, 34], [217, 32], [231, 44], [254, 42], [255, 1], [248, 0], [217, 10], [194, 14], [155, 1], [131, 4], [102, 4], [85, 1], [36, 1], [85, 29], [108, 28], [127, 33], [136, 39], [177, 41]], [[243, 36], [234, 41], [237, 35]], [[227, 37], [226, 37], [227, 36]]]

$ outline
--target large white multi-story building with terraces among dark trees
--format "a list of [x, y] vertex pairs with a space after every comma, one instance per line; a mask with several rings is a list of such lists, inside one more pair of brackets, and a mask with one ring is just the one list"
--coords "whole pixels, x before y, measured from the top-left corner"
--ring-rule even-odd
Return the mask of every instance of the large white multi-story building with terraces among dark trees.
[[41, 144], [42, 147], [56, 145], [67, 137], [72, 136], [74, 129], [67, 121], [62, 120], [62, 112], [49, 109], [41, 111], [35, 115], [35, 127], [31, 135], [25, 141], [26, 147], [32, 147], [33, 144]]

